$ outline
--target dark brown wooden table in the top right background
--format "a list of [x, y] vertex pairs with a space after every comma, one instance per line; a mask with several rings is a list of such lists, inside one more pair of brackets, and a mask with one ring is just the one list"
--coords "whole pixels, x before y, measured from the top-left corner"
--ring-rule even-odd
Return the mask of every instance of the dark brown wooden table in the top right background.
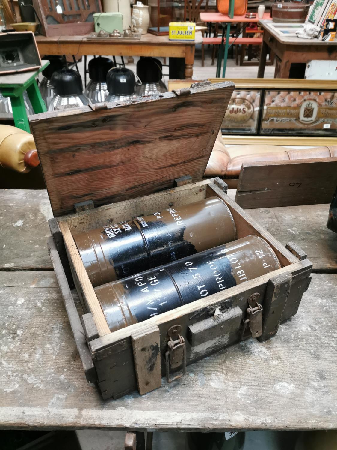
[[264, 32], [257, 78], [264, 76], [268, 48], [281, 61], [278, 78], [289, 78], [292, 63], [307, 63], [311, 59], [323, 59], [324, 61], [337, 59], [337, 40], [326, 42], [318, 39], [281, 36], [271, 27], [273, 22], [260, 20], [259, 23], [264, 28]]

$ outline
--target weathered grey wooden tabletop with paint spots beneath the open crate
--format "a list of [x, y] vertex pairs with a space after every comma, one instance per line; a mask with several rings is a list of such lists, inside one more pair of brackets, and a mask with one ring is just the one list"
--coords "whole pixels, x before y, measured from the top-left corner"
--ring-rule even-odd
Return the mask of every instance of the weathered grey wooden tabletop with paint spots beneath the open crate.
[[145, 396], [102, 401], [84, 378], [49, 261], [47, 193], [0, 191], [0, 428], [337, 428], [337, 235], [325, 227], [328, 205], [249, 212], [314, 264], [297, 315], [275, 338], [241, 342]]

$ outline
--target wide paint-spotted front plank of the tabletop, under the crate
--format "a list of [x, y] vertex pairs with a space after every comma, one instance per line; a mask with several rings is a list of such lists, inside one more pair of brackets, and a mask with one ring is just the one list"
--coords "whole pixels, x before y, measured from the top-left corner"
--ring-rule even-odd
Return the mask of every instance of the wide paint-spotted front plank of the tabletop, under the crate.
[[[6, 278], [7, 285], [20, 274], [9, 275], [13, 282]], [[29, 276], [33, 281], [35, 273]], [[200, 360], [180, 381], [163, 380], [146, 396], [134, 392], [107, 401], [85, 380], [58, 288], [1, 287], [0, 426], [336, 429], [336, 284], [337, 274], [314, 274], [297, 315], [274, 338], [248, 339]]]

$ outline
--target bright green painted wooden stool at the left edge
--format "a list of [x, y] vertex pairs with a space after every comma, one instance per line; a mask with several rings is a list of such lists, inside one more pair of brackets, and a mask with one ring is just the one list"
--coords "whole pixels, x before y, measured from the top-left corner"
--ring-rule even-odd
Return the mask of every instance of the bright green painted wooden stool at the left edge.
[[23, 100], [26, 90], [35, 113], [46, 112], [47, 108], [41, 97], [35, 77], [49, 65], [49, 61], [42, 61], [38, 70], [31, 72], [10, 73], [0, 75], [0, 91], [4, 97], [9, 97], [12, 104], [13, 119], [16, 127], [30, 133], [27, 111]]

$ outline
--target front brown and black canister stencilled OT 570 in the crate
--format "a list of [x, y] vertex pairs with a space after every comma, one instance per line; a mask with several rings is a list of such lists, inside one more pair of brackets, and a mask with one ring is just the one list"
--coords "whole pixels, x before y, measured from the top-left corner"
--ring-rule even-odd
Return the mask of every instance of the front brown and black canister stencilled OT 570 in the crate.
[[95, 288], [111, 331], [257, 278], [281, 266], [265, 240], [246, 238]]

